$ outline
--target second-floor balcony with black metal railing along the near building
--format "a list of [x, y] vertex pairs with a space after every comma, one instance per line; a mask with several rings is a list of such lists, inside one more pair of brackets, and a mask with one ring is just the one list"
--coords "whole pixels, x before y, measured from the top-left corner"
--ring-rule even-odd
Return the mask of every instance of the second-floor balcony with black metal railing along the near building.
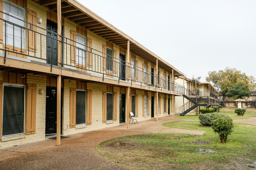
[[[132, 57], [126, 61], [122, 57], [126, 54], [121, 54], [117, 47], [109, 48], [105, 44], [97, 44], [93, 42], [94, 39], [74, 34], [70, 29], [63, 28], [62, 35], [58, 35], [54, 23], [43, 28], [4, 11], [1, 13], [3, 31], [0, 34], [3, 36], [0, 36], [0, 51], [4, 64], [11, 56], [20, 60], [31, 60], [38, 67], [48, 66], [51, 68], [50, 73], [53, 68], [59, 68], [101, 77], [102, 80], [114, 80], [114, 84], [125, 82], [147, 86], [150, 90], [155, 88], [177, 95], [183, 93], [182, 85], [171, 80], [168, 75], [159, 75], [156, 68], [137, 62]], [[61, 49], [58, 49], [58, 43], [61, 44]], [[98, 48], [100, 45], [102, 50]], [[60, 58], [58, 53], [61, 53]]]

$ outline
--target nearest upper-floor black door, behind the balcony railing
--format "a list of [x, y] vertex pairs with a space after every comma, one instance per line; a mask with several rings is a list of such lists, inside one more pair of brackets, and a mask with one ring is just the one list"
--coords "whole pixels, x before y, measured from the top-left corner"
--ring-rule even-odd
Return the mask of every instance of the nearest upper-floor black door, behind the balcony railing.
[[46, 60], [48, 64], [58, 64], [58, 26], [57, 23], [47, 20]]

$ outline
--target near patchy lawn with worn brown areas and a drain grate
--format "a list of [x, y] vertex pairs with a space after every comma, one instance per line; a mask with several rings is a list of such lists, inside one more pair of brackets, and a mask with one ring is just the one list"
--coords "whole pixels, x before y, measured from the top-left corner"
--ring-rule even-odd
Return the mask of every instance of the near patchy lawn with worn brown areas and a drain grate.
[[[251, 114], [256, 115], [256, 113]], [[197, 121], [168, 122], [163, 126], [200, 130], [205, 133], [204, 135], [154, 133], [119, 137], [99, 144], [96, 151], [113, 162], [136, 170], [254, 170], [256, 168], [255, 125], [234, 123], [234, 132], [228, 136], [226, 144], [220, 143], [219, 136], [211, 127], [201, 126]], [[194, 141], [207, 141], [211, 144], [198, 145], [193, 144]]]

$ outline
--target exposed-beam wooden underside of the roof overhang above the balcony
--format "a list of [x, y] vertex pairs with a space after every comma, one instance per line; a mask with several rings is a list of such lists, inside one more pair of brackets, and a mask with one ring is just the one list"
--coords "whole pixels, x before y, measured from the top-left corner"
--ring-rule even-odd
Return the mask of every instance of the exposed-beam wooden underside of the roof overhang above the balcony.
[[[33, 2], [57, 13], [57, 0], [33, 0]], [[165, 62], [156, 54], [152, 53], [131, 37], [100, 18], [100, 16], [96, 15], [76, 0], [61, 0], [61, 15], [124, 49], [127, 49], [127, 41], [130, 40], [130, 52], [155, 65], [156, 58], [158, 58], [158, 66], [160, 68], [165, 69], [170, 73], [172, 73], [172, 69], [174, 69], [174, 75], [183, 75], [182, 72], [178, 71], [171, 64]]]

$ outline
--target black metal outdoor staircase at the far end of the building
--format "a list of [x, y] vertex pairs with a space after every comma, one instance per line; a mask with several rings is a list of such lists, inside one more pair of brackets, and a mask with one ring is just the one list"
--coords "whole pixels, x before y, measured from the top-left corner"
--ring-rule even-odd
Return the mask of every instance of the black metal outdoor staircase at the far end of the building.
[[188, 100], [185, 104], [180, 106], [180, 115], [184, 116], [191, 110], [197, 108], [198, 106], [204, 106], [206, 108], [210, 108], [211, 106], [218, 106], [219, 104], [210, 103], [210, 97], [199, 90], [187, 90], [185, 89], [185, 93], [183, 97]]

